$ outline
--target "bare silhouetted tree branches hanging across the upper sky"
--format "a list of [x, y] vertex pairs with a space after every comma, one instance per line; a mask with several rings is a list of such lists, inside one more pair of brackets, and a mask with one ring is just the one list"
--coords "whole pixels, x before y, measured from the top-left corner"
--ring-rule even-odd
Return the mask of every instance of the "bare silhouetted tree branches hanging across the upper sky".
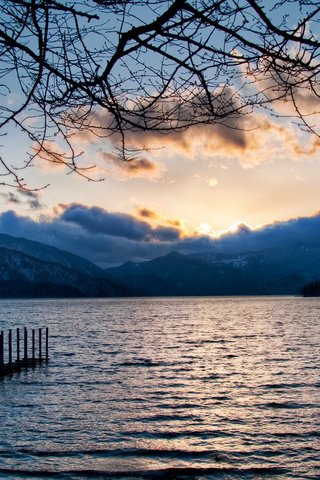
[[[280, 115], [273, 106], [289, 102], [319, 135], [319, 23], [312, 0], [0, 0], [0, 128], [29, 138], [22, 167], [37, 157], [86, 178], [79, 132], [114, 135], [130, 160], [128, 133], [225, 123], [256, 108]], [[8, 184], [25, 187], [21, 165], [0, 163]]]

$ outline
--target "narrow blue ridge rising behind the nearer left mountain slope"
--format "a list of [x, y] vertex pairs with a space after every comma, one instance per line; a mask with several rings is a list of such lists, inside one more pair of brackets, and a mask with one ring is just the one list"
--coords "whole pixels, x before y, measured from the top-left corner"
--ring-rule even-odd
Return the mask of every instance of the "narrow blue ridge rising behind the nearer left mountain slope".
[[0, 233], [0, 247], [24, 253], [45, 262], [53, 262], [91, 277], [104, 276], [103, 270], [88, 260], [44, 243]]

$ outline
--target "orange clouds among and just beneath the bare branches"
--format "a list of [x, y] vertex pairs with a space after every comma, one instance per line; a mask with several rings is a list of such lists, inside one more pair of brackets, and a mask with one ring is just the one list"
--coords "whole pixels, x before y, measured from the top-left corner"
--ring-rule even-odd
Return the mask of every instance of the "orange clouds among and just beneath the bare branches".
[[[249, 74], [247, 74], [248, 76]], [[279, 98], [279, 90], [276, 89], [275, 80], [270, 74], [269, 78], [258, 78], [253, 82], [253, 89], [264, 91], [266, 96], [274, 101], [273, 105], [281, 116], [283, 114], [296, 114], [292, 102], [286, 102], [286, 98]], [[220, 96], [219, 96], [220, 95]], [[160, 104], [155, 105], [155, 118], [159, 113], [157, 109], [161, 109], [163, 118], [166, 118], [168, 112], [168, 120], [163, 120], [156, 124], [154, 130], [125, 131], [126, 148], [133, 151], [144, 151], [145, 156], [132, 160], [130, 162], [120, 162], [112, 153], [102, 152], [101, 156], [107, 163], [107, 170], [121, 179], [130, 177], [147, 177], [150, 179], [159, 179], [163, 172], [164, 166], [154, 163], [151, 158], [160, 157], [164, 154], [183, 155], [190, 159], [196, 159], [199, 156], [208, 158], [225, 157], [232, 161], [238, 161], [244, 168], [259, 165], [263, 162], [273, 161], [275, 159], [293, 158], [299, 159], [306, 155], [315, 155], [320, 147], [318, 138], [309, 137], [309, 144], [304, 146], [304, 134], [298, 130], [292, 123], [284, 123], [284, 120], [274, 119], [267, 114], [247, 112], [245, 115], [237, 113], [237, 101], [234, 92], [230, 88], [221, 90], [221, 93], [213, 94], [214, 105], [217, 109], [226, 108], [228, 105], [234, 113], [229, 117], [222, 119], [218, 123], [207, 124], [204, 118], [201, 103], [201, 96], [194, 97], [191, 105], [199, 111], [197, 116], [198, 124], [189, 125], [190, 119], [194, 116], [194, 111], [190, 111], [190, 104], [180, 103], [178, 100], [163, 100]], [[317, 93], [310, 92], [307, 86], [298, 90], [295, 94], [296, 101], [305, 108], [305, 112], [313, 112], [316, 108], [320, 110], [320, 100]], [[317, 100], [317, 101], [316, 101]], [[221, 105], [220, 105], [221, 103]], [[179, 108], [178, 108], [179, 107]], [[307, 107], [309, 110], [307, 110]], [[171, 115], [173, 111], [177, 113], [174, 122]], [[291, 114], [290, 113], [290, 114]], [[152, 122], [152, 112], [148, 119]], [[135, 118], [135, 121], [138, 121]], [[141, 119], [146, 121], [146, 119]], [[203, 121], [203, 123], [201, 123]], [[185, 126], [185, 128], [184, 128]], [[107, 137], [102, 139], [101, 137]], [[96, 111], [90, 120], [90, 128], [83, 129], [75, 136], [76, 141], [85, 142], [87, 144], [101, 145], [102, 142], [108, 141], [111, 147], [121, 149], [123, 138], [119, 133], [112, 133], [112, 118], [109, 113]], [[221, 159], [221, 158], [220, 158]]]

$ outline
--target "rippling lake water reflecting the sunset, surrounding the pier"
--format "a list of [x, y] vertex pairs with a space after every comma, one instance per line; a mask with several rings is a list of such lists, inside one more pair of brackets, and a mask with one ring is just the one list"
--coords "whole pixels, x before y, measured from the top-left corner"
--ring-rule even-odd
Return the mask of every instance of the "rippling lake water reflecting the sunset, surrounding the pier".
[[0, 478], [319, 479], [320, 299], [2, 300]]

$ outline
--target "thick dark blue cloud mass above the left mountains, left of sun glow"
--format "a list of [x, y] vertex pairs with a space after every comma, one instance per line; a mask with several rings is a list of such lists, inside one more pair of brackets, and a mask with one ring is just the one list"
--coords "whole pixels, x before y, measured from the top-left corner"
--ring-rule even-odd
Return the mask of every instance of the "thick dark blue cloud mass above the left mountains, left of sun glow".
[[0, 232], [73, 252], [101, 266], [153, 258], [170, 251], [181, 236], [178, 227], [153, 227], [133, 215], [76, 204], [59, 205], [54, 216], [38, 221], [9, 210], [0, 214]]

